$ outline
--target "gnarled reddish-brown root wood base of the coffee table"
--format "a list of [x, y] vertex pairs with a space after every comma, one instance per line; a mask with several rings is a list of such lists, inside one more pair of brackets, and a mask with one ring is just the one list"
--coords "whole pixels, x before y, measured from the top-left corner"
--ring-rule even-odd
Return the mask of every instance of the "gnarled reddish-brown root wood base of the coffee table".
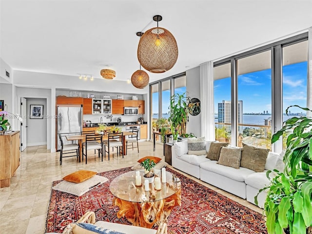
[[176, 194], [154, 202], [131, 202], [114, 197], [113, 206], [118, 206], [117, 217], [126, 217], [134, 226], [152, 228], [156, 223], [166, 222], [175, 206], [181, 205], [181, 189]]

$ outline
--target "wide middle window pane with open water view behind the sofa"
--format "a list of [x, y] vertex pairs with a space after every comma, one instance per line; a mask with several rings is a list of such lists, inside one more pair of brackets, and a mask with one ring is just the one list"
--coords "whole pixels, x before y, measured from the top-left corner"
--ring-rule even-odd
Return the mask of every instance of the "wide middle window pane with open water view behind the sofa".
[[237, 142], [271, 149], [271, 50], [237, 59]]

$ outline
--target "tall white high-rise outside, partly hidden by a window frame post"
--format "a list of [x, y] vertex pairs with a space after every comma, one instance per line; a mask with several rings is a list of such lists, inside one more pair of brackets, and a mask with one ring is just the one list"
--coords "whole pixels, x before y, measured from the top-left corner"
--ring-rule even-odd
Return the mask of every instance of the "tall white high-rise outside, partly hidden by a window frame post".
[[[238, 101], [237, 105], [237, 118], [238, 123], [243, 122], [243, 101]], [[231, 124], [231, 101], [223, 100], [218, 103], [218, 122], [219, 123], [230, 123]], [[225, 125], [228, 131], [231, 130], [231, 125]], [[242, 126], [238, 126], [238, 132], [243, 131]]]

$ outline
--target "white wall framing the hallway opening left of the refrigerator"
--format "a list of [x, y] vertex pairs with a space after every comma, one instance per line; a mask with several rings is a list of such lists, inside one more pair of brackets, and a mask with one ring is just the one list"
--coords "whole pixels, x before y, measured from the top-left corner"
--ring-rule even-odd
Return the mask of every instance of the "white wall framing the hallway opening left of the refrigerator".
[[[53, 90], [51, 89], [40, 89], [40, 88], [26, 88], [26, 87], [17, 87], [16, 96], [17, 96], [17, 109], [20, 109], [20, 98], [44, 98], [46, 99], [46, 144], [47, 149], [51, 152], [55, 152], [55, 98], [51, 98]], [[55, 92], [54, 92], [55, 95]], [[55, 97], [55, 96], [54, 96]], [[54, 105], [51, 105], [53, 103]], [[27, 110], [29, 111], [29, 109]], [[20, 110], [18, 111], [20, 113]], [[29, 119], [27, 119], [29, 120]], [[27, 123], [28, 125], [28, 123]], [[27, 130], [28, 131], [28, 130]], [[28, 135], [28, 134], [27, 134]], [[27, 136], [27, 142], [28, 142]]]

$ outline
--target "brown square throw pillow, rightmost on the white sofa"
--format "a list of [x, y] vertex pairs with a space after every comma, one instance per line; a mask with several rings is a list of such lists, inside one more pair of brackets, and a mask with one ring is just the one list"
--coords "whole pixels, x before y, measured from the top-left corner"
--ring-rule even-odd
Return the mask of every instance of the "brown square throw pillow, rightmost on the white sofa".
[[257, 148], [243, 143], [240, 166], [255, 172], [263, 172], [269, 154], [268, 149]]

